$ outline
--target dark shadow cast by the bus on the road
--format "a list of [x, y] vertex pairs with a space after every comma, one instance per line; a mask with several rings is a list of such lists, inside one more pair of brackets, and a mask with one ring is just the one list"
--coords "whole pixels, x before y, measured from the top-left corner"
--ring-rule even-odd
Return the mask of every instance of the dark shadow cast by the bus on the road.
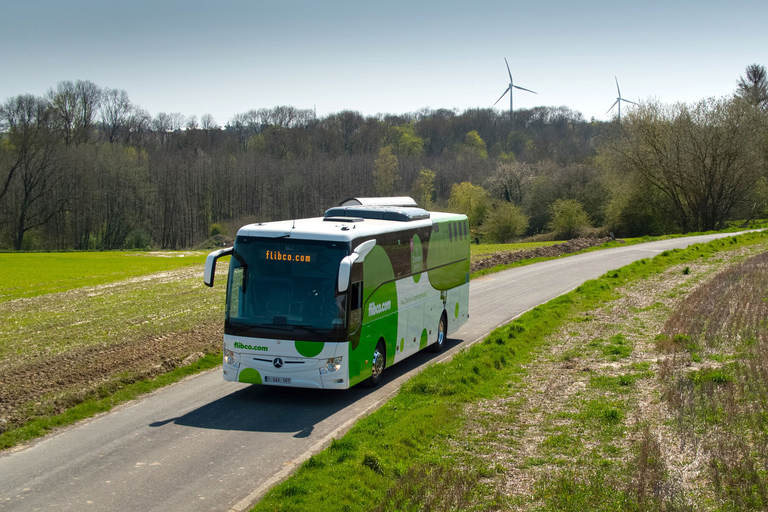
[[[459, 345], [462, 340], [446, 339], [444, 350]], [[382, 390], [387, 383], [426, 365], [441, 354], [421, 351], [384, 372], [384, 381], [377, 388], [357, 385], [344, 391], [282, 388], [277, 386], [248, 386], [194, 411], [162, 421], [150, 427], [165, 425], [240, 430], [246, 432], [296, 432], [293, 437], [309, 437], [314, 426]]]

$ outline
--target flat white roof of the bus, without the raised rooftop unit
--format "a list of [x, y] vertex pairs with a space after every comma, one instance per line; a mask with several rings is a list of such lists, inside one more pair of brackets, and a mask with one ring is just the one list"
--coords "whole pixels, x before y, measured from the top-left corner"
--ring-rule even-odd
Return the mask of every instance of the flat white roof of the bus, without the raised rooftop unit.
[[[333, 209], [331, 209], [333, 210]], [[329, 212], [331, 211], [329, 210]], [[352, 212], [348, 212], [352, 214]], [[457, 213], [429, 212], [429, 217], [403, 222], [361, 217], [313, 217], [309, 219], [281, 220], [248, 224], [240, 228], [238, 236], [264, 238], [294, 238], [299, 240], [352, 241], [395, 231], [409, 231], [432, 226], [442, 220], [463, 220]]]

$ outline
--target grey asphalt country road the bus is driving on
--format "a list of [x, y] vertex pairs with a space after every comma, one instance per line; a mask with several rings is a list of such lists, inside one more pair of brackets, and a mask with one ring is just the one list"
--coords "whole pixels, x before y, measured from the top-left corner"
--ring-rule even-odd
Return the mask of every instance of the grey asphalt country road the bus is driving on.
[[[387, 369], [371, 390], [224, 382], [220, 370], [0, 455], [0, 510], [245, 510], [425, 365], [635, 260], [727, 235], [596, 251], [472, 281], [470, 319], [441, 354]], [[202, 277], [201, 277], [202, 278]]]

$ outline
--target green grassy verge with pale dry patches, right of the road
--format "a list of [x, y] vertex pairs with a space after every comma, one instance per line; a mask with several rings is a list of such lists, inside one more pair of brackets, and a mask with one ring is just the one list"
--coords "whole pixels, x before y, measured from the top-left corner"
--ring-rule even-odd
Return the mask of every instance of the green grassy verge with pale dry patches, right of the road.
[[[706, 274], [698, 262], [714, 269], [724, 255], [765, 250], [766, 244], [768, 236], [757, 233], [667, 251], [533, 309], [450, 363], [425, 369], [254, 510], [658, 509], [662, 502], [652, 501], [651, 483], [663, 473], [659, 446], [636, 417], [638, 404], [653, 401], [652, 393], [637, 390], [655, 381], [658, 370], [633, 358], [648, 322], [639, 313], [665, 309], [655, 301], [632, 306], [637, 311], [627, 315], [639, 323], [629, 328], [626, 318], [606, 326], [595, 316], [621, 300], [627, 287], [664, 282], [654, 281], [664, 272], [685, 276], [692, 286]], [[563, 329], [572, 340], [564, 348], [558, 341]], [[538, 395], [557, 399], [557, 408], [532, 405], [524, 393], [542, 358], [579, 376], [578, 385], [566, 389], [558, 384], [560, 374], [539, 375]], [[582, 371], [587, 360], [589, 370]], [[525, 434], [531, 426], [533, 436]], [[528, 478], [529, 492], [514, 492], [522, 481], [517, 475]], [[680, 503], [675, 500], [663, 503]]]

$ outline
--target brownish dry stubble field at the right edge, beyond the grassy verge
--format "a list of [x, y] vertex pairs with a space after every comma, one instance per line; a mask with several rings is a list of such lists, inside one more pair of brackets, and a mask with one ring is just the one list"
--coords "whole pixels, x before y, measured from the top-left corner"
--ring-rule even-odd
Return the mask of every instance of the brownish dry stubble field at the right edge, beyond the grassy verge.
[[[722, 272], [664, 326], [685, 345], [663, 396], [721, 510], [768, 508], [768, 253]], [[675, 344], [675, 342], [673, 342]], [[706, 360], [691, 370], [694, 360]]]

